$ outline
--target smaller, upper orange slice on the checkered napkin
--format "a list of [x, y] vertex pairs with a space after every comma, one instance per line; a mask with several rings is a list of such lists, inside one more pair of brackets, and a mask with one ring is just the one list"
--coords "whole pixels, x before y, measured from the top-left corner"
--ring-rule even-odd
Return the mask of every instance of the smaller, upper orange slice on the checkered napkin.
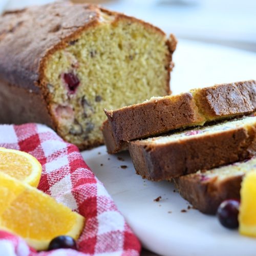
[[0, 147], [0, 172], [37, 187], [42, 166], [30, 154]]

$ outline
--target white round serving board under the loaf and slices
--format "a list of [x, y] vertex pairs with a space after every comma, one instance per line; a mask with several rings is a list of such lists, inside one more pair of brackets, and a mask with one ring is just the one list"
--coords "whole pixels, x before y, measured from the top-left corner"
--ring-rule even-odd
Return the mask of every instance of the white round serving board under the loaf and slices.
[[[256, 79], [256, 54], [251, 52], [180, 40], [173, 59], [173, 93]], [[175, 256], [256, 255], [256, 238], [222, 227], [215, 216], [187, 209], [188, 202], [174, 192], [172, 183], [143, 180], [135, 174], [129, 153], [108, 155], [100, 146], [82, 155], [144, 248]], [[162, 199], [154, 201], [159, 196]]]

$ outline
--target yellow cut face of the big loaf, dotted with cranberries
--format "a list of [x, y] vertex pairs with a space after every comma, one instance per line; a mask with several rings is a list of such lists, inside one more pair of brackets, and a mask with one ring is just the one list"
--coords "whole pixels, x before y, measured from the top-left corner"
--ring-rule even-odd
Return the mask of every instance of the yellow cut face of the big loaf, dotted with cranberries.
[[104, 108], [169, 92], [171, 57], [164, 34], [134, 18], [101, 15], [101, 23], [55, 51], [45, 65], [57, 132], [80, 148], [103, 143]]

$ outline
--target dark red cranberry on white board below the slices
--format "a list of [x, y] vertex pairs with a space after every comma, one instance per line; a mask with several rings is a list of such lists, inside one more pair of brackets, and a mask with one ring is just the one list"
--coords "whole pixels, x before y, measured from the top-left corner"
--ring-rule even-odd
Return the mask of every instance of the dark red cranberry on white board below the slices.
[[236, 199], [223, 201], [217, 211], [220, 223], [227, 228], [238, 228], [240, 202]]

